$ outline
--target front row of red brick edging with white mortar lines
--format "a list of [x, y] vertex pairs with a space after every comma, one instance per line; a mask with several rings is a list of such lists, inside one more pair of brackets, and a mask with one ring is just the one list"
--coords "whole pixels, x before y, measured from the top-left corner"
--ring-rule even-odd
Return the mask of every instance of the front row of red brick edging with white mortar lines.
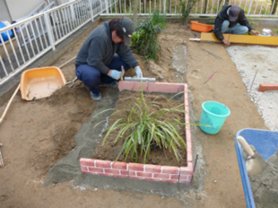
[[169, 183], [190, 183], [192, 162], [187, 167], [160, 166], [121, 161], [80, 159], [81, 170], [85, 174], [134, 178]]

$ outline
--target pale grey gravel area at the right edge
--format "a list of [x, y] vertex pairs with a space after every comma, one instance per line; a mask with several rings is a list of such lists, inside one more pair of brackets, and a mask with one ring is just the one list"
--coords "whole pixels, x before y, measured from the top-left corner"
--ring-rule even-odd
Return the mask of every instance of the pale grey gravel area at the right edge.
[[278, 131], [278, 91], [258, 91], [260, 83], [278, 83], [278, 48], [232, 46], [227, 51], [265, 125]]

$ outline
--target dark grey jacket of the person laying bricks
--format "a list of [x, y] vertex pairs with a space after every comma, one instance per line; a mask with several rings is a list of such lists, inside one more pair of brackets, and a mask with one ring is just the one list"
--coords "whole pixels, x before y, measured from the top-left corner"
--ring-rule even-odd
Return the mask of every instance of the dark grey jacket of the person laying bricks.
[[115, 44], [112, 41], [109, 21], [91, 31], [76, 56], [75, 65], [91, 65], [100, 70], [101, 74], [109, 73], [109, 63], [113, 56], [118, 56], [130, 67], [139, 65], [132, 50], [125, 43]]

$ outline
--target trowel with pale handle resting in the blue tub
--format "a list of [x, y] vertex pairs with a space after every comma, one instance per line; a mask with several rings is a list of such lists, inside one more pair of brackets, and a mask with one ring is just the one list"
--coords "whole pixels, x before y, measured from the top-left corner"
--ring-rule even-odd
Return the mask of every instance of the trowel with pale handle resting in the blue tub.
[[242, 148], [248, 153], [248, 158], [245, 162], [246, 168], [248, 170], [248, 176], [256, 176], [260, 174], [260, 172], [265, 169], [265, 160], [264, 158], [257, 152], [253, 152], [249, 144], [246, 140], [239, 135], [237, 137]]

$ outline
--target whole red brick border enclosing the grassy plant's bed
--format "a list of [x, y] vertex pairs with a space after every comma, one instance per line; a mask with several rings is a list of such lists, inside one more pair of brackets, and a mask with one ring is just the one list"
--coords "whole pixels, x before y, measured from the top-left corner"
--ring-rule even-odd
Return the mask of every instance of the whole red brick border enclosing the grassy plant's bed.
[[[120, 81], [118, 84], [119, 91], [139, 91], [140, 82]], [[148, 92], [166, 92], [178, 93], [185, 91], [185, 110], [187, 111], [186, 123], [189, 120], [189, 100], [187, 93], [187, 84], [180, 83], [147, 83], [143, 82], [143, 91]], [[93, 174], [117, 178], [134, 178], [141, 180], [161, 181], [169, 183], [187, 183], [192, 178], [193, 161], [192, 161], [192, 141], [190, 126], [186, 126], [187, 137], [187, 167], [160, 166], [139, 163], [114, 162], [110, 160], [93, 160], [80, 159], [80, 166], [84, 174]]]

